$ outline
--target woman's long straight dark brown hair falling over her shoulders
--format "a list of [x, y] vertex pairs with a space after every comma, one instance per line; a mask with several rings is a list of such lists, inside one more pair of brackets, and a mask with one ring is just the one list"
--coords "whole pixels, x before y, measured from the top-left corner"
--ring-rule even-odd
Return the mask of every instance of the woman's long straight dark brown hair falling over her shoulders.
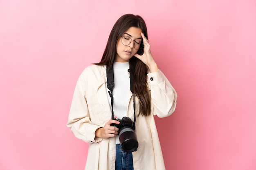
[[[112, 67], [117, 53], [117, 41], [130, 27], [140, 28], [148, 39], [146, 23], [141, 16], [133, 14], [123, 15], [113, 26], [101, 61], [94, 63], [95, 65], [108, 65], [109, 68]], [[143, 43], [141, 43], [141, 47], [137, 54], [143, 54]], [[150, 114], [150, 93], [147, 87], [147, 66], [137, 57], [133, 56], [130, 59], [130, 70], [132, 70], [130, 74], [133, 73], [134, 93], [139, 99], [139, 114], [148, 116]]]

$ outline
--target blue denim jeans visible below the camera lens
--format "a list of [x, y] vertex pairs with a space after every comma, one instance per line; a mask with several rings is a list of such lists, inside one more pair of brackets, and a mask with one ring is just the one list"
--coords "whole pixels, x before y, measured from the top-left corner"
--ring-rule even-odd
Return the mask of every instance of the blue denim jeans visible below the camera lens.
[[116, 144], [116, 170], [133, 170], [132, 153], [124, 152], [120, 144]]

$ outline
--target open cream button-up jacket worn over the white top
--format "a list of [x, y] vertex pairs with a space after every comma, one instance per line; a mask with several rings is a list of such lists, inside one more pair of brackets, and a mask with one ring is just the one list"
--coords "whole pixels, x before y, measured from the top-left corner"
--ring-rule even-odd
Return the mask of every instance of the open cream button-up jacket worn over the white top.
[[[95, 131], [111, 119], [106, 85], [106, 66], [91, 65], [80, 75], [67, 127], [74, 135], [89, 144], [85, 170], [115, 170], [115, 137], [95, 138]], [[154, 115], [159, 118], [170, 116], [176, 107], [177, 94], [164, 74], [148, 73], [151, 92], [150, 116], [137, 116], [135, 133], [139, 147], [132, 153], [134, 170], [165, 170], [162, 150], [157, 135]], [[133, 120], [132, 93], [127, 99], [128, 117]], [[139, 101], [135, 96], [135, 113]]]

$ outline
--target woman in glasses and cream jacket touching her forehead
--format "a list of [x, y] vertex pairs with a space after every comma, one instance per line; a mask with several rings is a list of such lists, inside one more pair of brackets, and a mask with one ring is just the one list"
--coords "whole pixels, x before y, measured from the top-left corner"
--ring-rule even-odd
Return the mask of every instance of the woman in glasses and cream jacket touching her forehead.
[[[165, 169], [153, 116], [170, 116], [177, 94], [158, 69], [147, 37], [139, 15], [121, 16], [101, 62], [87, 67], [79, 77], [67, 126], [89, 144], [85, 170]], [[137, 136], [136, 151], [121, 149], [121, 121], [116, 119], [125, 117], [135, 122], [135, 130], [130, 129]]]

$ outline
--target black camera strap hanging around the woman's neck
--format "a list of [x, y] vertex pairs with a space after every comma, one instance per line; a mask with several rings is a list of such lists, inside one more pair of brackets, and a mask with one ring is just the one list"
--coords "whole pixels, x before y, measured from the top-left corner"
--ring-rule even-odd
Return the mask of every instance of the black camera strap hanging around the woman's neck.
[[[130, 91], [132, 92], [132, 99], [133, 99], [133, 111], [134, 111], [133, 112], [133, 118], [134, 118], [134, 122], [136, 122], [134, 91], [133, 91], [133, 72], [132, 72], [132, 70], [130, 70], [129, 72], [130, 72]], [[115, 86], [115, 83], [114, 83], [114, 69], [113, 69], [113, 66], [108, 69], [108, 65], [107, 65], [107, 85], [108, 85], [108, 89], [110, 90], [110, 91], [108, 91], [108, 94], [111, 98], [111, 107], [112, 107], [112, 116], [111, 116], [111, 118], [114, 119], [114, 111], [113, 111], [114, 98], [113, 98], [113, 94], [112, 94], [114, 86]]]

